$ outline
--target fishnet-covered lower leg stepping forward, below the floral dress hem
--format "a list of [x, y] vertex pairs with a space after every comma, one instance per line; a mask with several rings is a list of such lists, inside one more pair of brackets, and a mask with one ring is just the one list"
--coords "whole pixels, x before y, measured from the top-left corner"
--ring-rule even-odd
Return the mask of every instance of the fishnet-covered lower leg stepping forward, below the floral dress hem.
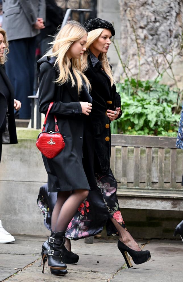
[[119, 240], [132, 250], [140, 251], [141, 249], [137, 242], [133, 239], [132, 235], [125, 230], [114, 218], [111, 218], [111, 221], [118, 231]]

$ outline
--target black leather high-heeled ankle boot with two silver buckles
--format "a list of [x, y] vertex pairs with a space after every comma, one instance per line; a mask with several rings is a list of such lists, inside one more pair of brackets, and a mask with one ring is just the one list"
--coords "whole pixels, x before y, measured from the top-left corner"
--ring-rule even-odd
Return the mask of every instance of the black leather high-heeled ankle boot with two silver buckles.
[[[43, 257], [42, 262], [45, 264], [45, 256], [47, 257], [47, 264], [49, 268], [64, 270], [67, 268], [66, 264], [62, 263], [61, 249], [65, 243], [65, 232], [52, 232], [48, 237], [48, 245], [46, 242], [42, 245]], [[49, 248], [49, 249], [48, 249]], [[43, 264], [43, 273], [44, 273]]]

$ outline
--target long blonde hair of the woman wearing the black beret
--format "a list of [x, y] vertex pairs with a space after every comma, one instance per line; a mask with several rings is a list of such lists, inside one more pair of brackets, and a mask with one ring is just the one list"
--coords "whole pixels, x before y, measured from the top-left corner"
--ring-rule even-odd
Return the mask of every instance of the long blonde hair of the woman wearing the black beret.
[[[83, 72], [85, 72], [89, 67], [89, 65], [88, 65], [88, 55], [89, 55], [89, 52], [90, 52], [90, 45], [95, 40], [97, 40], [97, 38], [99, 38], [99, 36], [103, 32], [103, 30], [104, 30], [104, 28], [97, 28], [95, 30], [91, 30], [90, 32], [88, 32], [88, 40], [87, 40], [87, 43], [86, 43], [86, 52], [84, 52], [84, 54], [82, 56], [81, 69], [82, 69]], [[111, 86], [113, 86], [115, 81], [114, 81], [114, 78], [113, 78], [113, 72], [111, 70], [111, 67], [109, 65], [109, 61], [107, 59], [107, 54], [106, 53], [100, 53], [98, 59], [102, 63], [103, 70], [107, 73], [107, 75], [109, 76], [109, 78], [111, 80]]]

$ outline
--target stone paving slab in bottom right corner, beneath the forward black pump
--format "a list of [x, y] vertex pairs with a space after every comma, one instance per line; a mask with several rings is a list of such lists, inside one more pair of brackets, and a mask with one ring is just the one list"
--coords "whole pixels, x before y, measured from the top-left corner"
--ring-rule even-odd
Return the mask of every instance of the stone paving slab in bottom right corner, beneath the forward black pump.
[[182, 282], [183, 244], [178, 240], [151, 240], [143, 250], [151, 252], [151, 260], [133, 268], [120, 269], [110, 282]]

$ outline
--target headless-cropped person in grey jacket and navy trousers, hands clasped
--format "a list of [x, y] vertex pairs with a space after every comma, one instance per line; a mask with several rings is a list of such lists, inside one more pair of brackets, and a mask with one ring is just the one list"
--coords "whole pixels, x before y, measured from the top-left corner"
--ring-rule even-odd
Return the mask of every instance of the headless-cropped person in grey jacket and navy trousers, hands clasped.
[[[22, 101], [20, 119], [30, 119], [30, 99], [34, 85], [36, 36], [45, 28], [45, 0], [3, 1], [3, 25], [10, 53], [6, 73], [13, 85], [15, 98]], [[17, 116], [18, 117], [18, 116]]]

